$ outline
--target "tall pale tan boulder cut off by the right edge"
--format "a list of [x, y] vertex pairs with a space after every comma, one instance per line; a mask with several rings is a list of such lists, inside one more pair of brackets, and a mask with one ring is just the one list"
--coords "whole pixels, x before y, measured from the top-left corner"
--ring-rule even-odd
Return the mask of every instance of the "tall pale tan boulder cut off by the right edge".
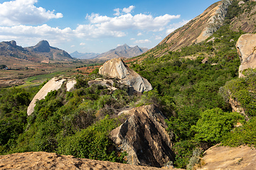
[[243, 70], [256, 68], [256, 34], [247, 33], [241, 35], [236, 47], [241, 60], [239, 77], [244, 77]]

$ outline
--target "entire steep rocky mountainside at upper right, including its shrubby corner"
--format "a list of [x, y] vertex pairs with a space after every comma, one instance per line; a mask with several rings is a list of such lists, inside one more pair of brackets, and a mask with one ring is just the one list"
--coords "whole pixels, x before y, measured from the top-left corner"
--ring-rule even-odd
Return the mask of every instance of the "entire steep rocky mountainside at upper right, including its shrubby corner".
[[229, 24], [231, 30], [253, 33], [256, 30], [255, 5], [255, 1], [247, 0], [218, 1], [185, 26], [167, 35], [159, 45], [144, 53], [142, 58], [151, 55], [159, 57], [169, 51], [181, 50], [182, 47], [202, 42], [225, 24]]

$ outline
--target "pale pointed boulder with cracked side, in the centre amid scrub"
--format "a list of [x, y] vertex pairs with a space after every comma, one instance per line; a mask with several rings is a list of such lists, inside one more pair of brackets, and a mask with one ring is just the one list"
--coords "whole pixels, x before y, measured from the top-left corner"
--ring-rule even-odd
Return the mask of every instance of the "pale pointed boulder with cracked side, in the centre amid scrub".
[[109, 78], [117, 78], [120, 83], [132, 86], [135, 91], [144, 92], [153, 89], [147, 79], [130, 69], [121, 59], [112, 59], [105, 62], [100, 67], [99, 74], [106, 75]]

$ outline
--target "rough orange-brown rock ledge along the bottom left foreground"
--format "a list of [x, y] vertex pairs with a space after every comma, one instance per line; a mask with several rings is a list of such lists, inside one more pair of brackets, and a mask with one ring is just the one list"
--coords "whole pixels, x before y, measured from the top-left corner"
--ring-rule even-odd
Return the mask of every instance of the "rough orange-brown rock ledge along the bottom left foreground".
[[0, 155], [0, 169], [131, 169], [157, 170], [158, 168], [103, 162], [92, 159], [79, 159], [73, 156], [47, 152], [25, 152]]

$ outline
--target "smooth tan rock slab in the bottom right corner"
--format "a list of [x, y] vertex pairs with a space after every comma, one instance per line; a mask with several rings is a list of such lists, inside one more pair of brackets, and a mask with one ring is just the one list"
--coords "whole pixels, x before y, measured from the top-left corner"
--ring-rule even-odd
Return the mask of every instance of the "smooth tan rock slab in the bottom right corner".
[[199, 168], [200, 170], [256, 169], [256, 150], [247, 146], [219, 147], [217, 145], [206, 150], [204, 155], [203, 162], [206, 165]]

